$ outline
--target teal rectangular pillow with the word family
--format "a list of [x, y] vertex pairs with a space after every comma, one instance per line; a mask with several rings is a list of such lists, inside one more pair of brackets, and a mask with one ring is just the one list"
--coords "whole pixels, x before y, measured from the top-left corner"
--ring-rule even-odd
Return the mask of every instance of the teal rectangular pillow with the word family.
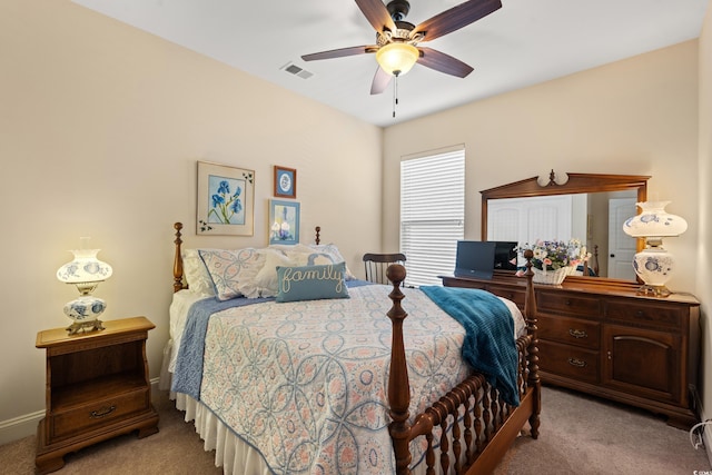
[[345, 281], [346, 264], [277, 267], [277, 301], [349, 298]]

